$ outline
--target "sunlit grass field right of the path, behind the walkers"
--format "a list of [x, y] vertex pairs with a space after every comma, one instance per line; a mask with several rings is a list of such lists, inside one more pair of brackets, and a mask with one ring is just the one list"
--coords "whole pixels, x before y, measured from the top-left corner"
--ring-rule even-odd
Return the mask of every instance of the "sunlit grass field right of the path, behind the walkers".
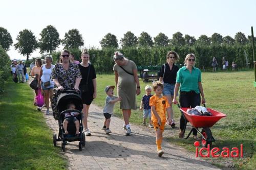
[[[226, 164], [241, 164], [248, 160], [247, 163], [239, 166], [239, 169], [255, 169], [255, 141], [256, 141], [256, 91], [253, 87], [254, 71], [227, 71], [227, 72], [203, 72], [202, 84], [204, 88], [206, 106], [221, 111], [227, 115], [222, 118], [212, 128], [212, 135], [216, 138], [216, 142], [212, 147], [239, 147], [241, 143], [244, 145], [243, 159], [223, 159], [210, 158], [209, 161], [221, 168], [225, 168]], [[144, 94], [143, 88], [151, 83], [143, 83], [140, 80], [141, 94], [137, 97], [137, 107], [140, 106], [140, 100]], [[113, 75], [97, 76], [97, 99], [94, 103], [100, 107], [104, 106], [106, 85], [115, 85]], [[115, 90], [116, 91], [116, 90]], [[174, 106], [175, 120], [179, 122], [180, 111]], [[115, 106], [115, 115], [122, 117], [119, 104]], [[142, 111], [133, 110], [131, 122], [137, 125], [142, 122]], [[175, 143], [195, 153], [194, 140], [178, 138], [178, 129], [168, 139], [171, 143]], [[188, 129], [187, 129], [188, 131]], [[252, 148], [250, 143], [254, 145]], [[254, 152], [252, 158], [250, 153]], [[208, 159], [208, 158], [207, 158]], [[229, 163], [228, 163], [229, 162]]]

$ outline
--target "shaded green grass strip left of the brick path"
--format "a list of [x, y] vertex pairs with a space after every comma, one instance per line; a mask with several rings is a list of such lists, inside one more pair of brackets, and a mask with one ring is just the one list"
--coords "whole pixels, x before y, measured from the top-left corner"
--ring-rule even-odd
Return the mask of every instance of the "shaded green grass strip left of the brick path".
[[0, 94], [0, 169], [66, 169], [52, 131], [33, 106], [27, 84], [7, 81]]

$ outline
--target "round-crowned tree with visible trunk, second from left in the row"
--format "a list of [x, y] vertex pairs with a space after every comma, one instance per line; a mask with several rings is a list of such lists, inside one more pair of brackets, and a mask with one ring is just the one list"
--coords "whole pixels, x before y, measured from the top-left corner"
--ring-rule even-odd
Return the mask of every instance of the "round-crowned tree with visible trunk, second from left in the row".
[[20, 54], [26, 55], [28, 60], [30, 54], [38, 47], [38, 42], [34, 34], [30, 30], [25, 29], [18, 33], [16, 40], [18, 42], [14, 44], [15, 50], [18, 49]]

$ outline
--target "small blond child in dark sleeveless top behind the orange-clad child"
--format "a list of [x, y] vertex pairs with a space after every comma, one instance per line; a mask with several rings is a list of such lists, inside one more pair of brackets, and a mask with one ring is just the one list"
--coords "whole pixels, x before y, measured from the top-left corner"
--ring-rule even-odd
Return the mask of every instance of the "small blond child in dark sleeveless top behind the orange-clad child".
[[150, 107], [150, 98], [152, 96], [151, 94], [152, 87], [149, 85], [146, 85], [145, 87], [145, 92], [146, 94], [143, 95], [143, 98], [140, 103], [140, 110], [143, 109], [143, 125], [146, 125], [146, 119], [148, 117], [149, 122], [148, 122], [148, 127], [153, 128], [151, 124], [151, 107]]

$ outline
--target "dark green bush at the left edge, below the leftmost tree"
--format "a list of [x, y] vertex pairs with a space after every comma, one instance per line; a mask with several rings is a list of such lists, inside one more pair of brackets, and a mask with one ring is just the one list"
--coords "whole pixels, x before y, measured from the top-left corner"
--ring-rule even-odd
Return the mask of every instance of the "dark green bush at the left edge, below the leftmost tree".
[[0, 45], [0, 91], [3, 88], [4, 81], [10, 76], [11, 60], [4, 48]]

